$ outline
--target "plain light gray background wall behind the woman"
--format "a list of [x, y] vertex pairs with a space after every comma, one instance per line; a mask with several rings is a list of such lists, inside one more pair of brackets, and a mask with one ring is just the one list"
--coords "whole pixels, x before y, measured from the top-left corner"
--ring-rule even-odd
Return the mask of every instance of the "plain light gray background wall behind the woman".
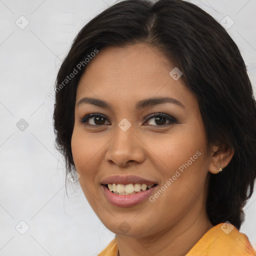
[[[69, 187], [70, 198], [65, 194], [63, 160], [54, 148], [54, 100], [46, 98], [75, 35], [114, 2], [0, 0], [0, 256], [94, 255], [114, 237], [79, 186]], [[226, 15], [234, 21], [227, 31], [255, 86], [256, 1], [191, 2], [219, 22]], [[25, 24], [21, 15], [29, 21], [24, 29], [15, 23]], [[21, 118], [29, 125], [23, 131], [16, 127]], [[254, 247], [255, 200], [254, 192], [240, 229]], [[24, 234], [17, 231], [25, 231], [21, 220], [29, 226]]]

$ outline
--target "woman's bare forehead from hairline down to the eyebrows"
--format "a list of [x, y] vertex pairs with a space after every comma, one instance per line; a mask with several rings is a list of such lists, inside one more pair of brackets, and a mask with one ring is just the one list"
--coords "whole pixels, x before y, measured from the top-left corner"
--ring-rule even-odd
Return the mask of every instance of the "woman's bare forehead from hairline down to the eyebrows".
[[76, 101], [93, 96], [125, 102], [152, 96], [188, 100], [191, 92], [169, 72], [174, 65], [156, 47], [137, 43], [99, 50], [86, 66], [77, 87]]

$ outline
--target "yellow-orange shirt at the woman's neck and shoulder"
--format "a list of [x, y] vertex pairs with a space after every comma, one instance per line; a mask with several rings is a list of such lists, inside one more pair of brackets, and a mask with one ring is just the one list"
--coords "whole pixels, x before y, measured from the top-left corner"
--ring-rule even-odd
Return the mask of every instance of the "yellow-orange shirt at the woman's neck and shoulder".
[[[98, 256], [117, 256], [114, 238]], [[247, 236], [229, 224], [220, 223], [210, 228], [185, 256], [255, 256], [255, 250]]]

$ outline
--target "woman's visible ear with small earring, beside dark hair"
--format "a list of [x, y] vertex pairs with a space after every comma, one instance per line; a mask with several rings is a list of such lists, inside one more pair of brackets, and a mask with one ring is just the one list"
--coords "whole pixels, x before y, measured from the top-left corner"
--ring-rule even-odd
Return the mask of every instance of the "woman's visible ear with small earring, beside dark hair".
[[228, 144], [221, 144], [220, 146], [212, 145], [208, 167], [209, 172], [217, 174], [230, 162], [233, 154], [234, 149]]

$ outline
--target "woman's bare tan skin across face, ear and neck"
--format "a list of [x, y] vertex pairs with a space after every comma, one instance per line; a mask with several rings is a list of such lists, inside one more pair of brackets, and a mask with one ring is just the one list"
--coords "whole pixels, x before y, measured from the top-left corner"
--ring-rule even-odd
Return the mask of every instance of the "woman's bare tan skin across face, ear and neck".
[[[157, 48], [145, 43], [108, 47], [90, 60], [77, 87], [71, 139], [74, 164], [89, 204], [116, 234], [120, 256], [163, 256], [170, 251], [185, 255], [213, 226], [205, 210], [208, 173], [217, 174], [233, 155], [226, 145], [206, 150], [196, 97], [181, 78], [169, 75], [173, 67]], [[135, 109], [137, 101], [156, 96], [173, 97], [184, 107], [167, 102]], [[105, 100], [112, 109], [89, 103], [77, 106], [83, 97]], [[153, 112], [168, 114], [177, 123], [147, 120]], [[91, 125], [85, 125], [80, 120], [88, 113], [103, 114], [105, 119], [95, 122], [91, 117], [87, 121]], [[118, 126], [123, 118], [131, 123], [125, 132]], [[201, 155], [154, 202], [146, 199], [132, 207], [117, 207], [102, 193], [100, 181], [116, 174], [155, 180], [160, 188], [197, 151]], [[130, 226], [127, 233], [118, 228], [123, 221]]]

